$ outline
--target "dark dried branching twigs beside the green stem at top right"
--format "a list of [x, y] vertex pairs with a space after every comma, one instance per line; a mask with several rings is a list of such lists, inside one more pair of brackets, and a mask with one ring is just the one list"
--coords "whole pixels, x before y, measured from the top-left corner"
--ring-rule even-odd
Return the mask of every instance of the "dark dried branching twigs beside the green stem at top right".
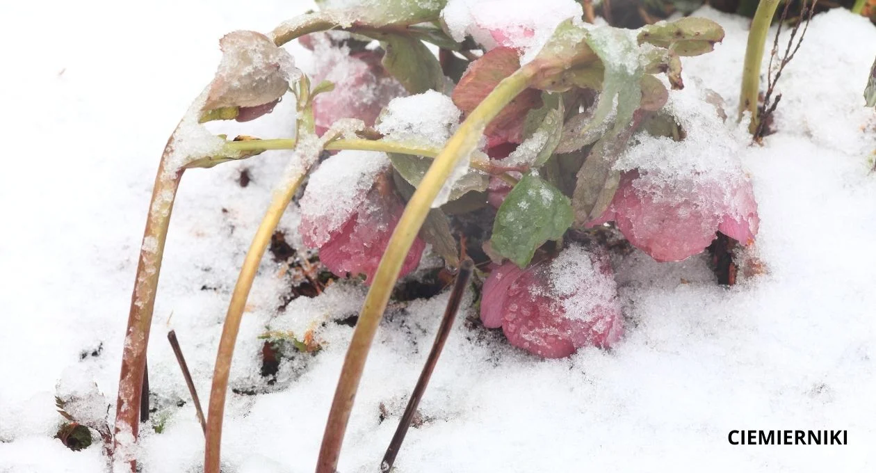
[[[775, 39], [773, 41], [773, 51], [770, 53], [769, 67], [767, 68], [767, 93], [766, 95], [764, 95], [763, 105], [758, 107], [759, 120], [757, 128], [754, 131], [754, 140], [757, 142], [760, 142], [760, 140], [767, 132], [767, 125], [771, 122], [769, 118], [773, 116], [773, 112], [775, 111], [776, 107], [779, 105], [779, 101], [781, 100], [781, 94], [778, 94], [775, 96], [775, 101], [773, 101], [775, 84], [779, 81], [779, 78], [781, 77], [781, 72], [785, 69], [785, 66], [788, 65], [788, 62], [794, 59], [794, 55], [797, 53], [797, 50], [800, 49], [800, 46], [803, 42], [803, 37], [806, 35], [806, 30], [809, 28], [809, 22], [812, 21], [812, 14], [815, 11], [818, 0], [812, 2], [811, 5], [809, 5], [809, 0], [801, 0], [801, 2], [801, 21], [798, 21], [794, 25], [794, 28], [791, 29], [791, 36], [788, 38], [788, 46], [785, 47], [785, 53], [782, 54], [778, 67], [776, 67], [775, 74], [773, 74], [773, 60], [779, 57], [779, 35], [781, 35], [781, 26], [788, 19], [788, 10], [792, 2], [786, 3], [785, 8], [781, 11], [779, 26], [776, 29]], [[806, 17], [806, 19], [803, 20], [803, 17]], [[803, 24], [802, 32], [800, 32], [801, 23]], [[800, 38], [797, 39], [797, 42], [795, 44], [794, 39], [797, 36], [797, 32], [800, 32]]]

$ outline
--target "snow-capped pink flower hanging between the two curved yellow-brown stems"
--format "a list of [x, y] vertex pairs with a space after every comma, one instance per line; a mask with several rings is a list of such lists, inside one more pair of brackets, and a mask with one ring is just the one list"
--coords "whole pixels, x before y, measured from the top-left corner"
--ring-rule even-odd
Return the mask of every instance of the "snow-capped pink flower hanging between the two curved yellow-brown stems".
[[[318, 248], [320, 260], [338, 276], [364, 274], [370, 285], [380, 258], [401, 218], [404, 204], [386, 171], [390, 162], [381, 152], [338, 152], [311, 174], [300, 199], [299, 232], [308, 248]], [[414, 240], [401, 275], [420, 264], [426, 248]]]

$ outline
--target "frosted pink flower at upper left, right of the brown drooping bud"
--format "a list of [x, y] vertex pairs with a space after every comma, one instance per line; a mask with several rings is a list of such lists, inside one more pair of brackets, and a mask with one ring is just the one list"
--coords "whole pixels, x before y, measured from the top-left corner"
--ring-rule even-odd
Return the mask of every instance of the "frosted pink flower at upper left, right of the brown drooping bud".
[[340, 118], [358, 118], [372, 126], [389, 102], [407, 95], [405, 88], [380, 64], [376, 51], [350, 53], [327, 37], [314, 36], [314, 83], [331, 81], [335, 88], [314, 97], [314, 122], [319, 134]]

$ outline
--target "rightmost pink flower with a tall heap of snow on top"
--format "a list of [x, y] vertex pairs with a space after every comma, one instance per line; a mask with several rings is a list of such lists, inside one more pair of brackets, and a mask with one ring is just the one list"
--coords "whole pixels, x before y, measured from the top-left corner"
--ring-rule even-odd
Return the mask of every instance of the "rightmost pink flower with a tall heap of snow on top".
[[614, 221], [631, 244], [658, 261], [703, 251], [718, 230], [752, 242], [757, 202], [738, 159], [750, 137], [724, 124], [707, 95], [694, 81], [669, 97], [668, 112], [686, 137], [640, 133], [615, 166], [624, 174], [611, 205], [588, 226]]

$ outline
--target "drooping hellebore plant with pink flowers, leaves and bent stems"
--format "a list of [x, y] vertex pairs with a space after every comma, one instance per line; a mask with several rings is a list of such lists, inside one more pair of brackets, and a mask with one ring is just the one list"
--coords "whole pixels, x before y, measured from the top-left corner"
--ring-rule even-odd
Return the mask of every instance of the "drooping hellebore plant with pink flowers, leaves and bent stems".
[[[681, 18], [634, 31], [593, 26], [572, 0], [545, 0], [538, 15], [500, 18], [492, 14], [502, 8], [498, 1], [359, 5], [307, 13], [270, 36], [233, 32], [221, 41], [215, 79], [180, 122], [159, 166], [124, 349], [115, 461], [135, 466], [127, 447], [138, 433], [161, 253], [189, 167], [294, 150], [225, 318], [206, 426], [204, 470], [211, 473], [219, 471], [246, 300], [280, 216], [308, 175], [298, 201], [303, 243], [318, 249], [336, 276], [363, 275], [370, 286], [323, 436], [317, 471], [324, 473], [336, 471], [393, 286], [417, 268], [426, 244], [447, 265], [464, 261], [469, 270], [468, 258], [460, 258], [466, 247], [489, 255], [492, 261], [476, 260], [491, 268], [480, 300], [484, 327], [501, 327], [512, 345], [534, 355], [567, 357], [583, 347], [611, 348], [624, 332], [609, 251], [588, 237], [608, 231], [606, 222], [659, 261], [703, 251], [716, 231], [741, 244], [753, 241], [757, 205], [741, 174], [710, 194], [696, 187], [696, 175], [654, 181], [660, 173], [618, 164], [648, 139], [685, 138], [684, 121], [665, 107], [668, 88], [684, 87], [681, 57], [708, 53], [723, 39], [714, 22]], [[293, 39], [314, 52], [313, 88], [280, 47]], [[439, 48], [437, 57], [426, 43]], [[294, 138], [229, 141], [199, 124], [270, 113], [290, 89], [298, 113]], [[336, 153], [321, 159], [325, 152]], [[458, 218], [476, 212], [489, 237], [460, 234]]]

